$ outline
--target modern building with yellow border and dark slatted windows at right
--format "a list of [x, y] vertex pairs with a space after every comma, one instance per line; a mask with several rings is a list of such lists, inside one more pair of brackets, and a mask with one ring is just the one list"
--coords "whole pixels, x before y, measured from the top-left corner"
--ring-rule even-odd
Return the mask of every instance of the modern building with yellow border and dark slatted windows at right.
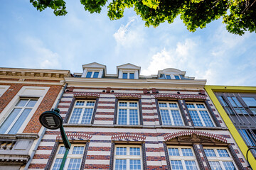
[[[220, 115], [246, 157], [249, 148], [256, 149], [256, 87], [206, 86]], [[256, 169], [256, 152], [251, 149], [248, 160]]]

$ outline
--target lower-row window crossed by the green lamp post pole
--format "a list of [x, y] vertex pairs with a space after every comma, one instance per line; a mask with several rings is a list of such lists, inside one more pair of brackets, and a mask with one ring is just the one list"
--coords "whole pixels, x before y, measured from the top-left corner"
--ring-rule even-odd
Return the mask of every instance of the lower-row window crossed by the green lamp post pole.
[[[64, 170], [79, 170], [82, 162], [82, 155], [85, 152], [85, 145], [71, 145], [68, 152], [68, 157], [65, 162]], [[60, 169], [60, 164], [62, 162], [65, 153], [65, 147], [60, 145], [58, 147], [58, 152], [55, 155], [55, 161], [52, 170]]]

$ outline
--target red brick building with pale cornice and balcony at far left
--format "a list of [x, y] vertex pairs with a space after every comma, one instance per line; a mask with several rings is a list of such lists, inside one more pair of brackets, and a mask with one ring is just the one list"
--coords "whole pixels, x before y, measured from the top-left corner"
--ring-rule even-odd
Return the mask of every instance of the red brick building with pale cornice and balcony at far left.
[[42, 135], [38, 121], [60, 94], [68, 70], [0, 68], [0, 169], [23, 169]]

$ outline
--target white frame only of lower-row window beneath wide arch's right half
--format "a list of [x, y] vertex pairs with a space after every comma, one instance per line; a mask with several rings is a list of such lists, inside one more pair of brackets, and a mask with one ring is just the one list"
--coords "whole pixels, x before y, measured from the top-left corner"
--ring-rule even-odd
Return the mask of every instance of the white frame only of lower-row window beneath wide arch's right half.
[[[235, 169], [238, 169], [238, 167], [236, 166], [233, 160], [232, 155], [230, 154], [229, 150], [226, 147], [203, 147], [203, 149], [213, 149], [215, 152], [216, 157], [207, 157], [208, 162], [219, 162], [223, 170], [225, 170], [225, 166], [223, 165], [223, 162], [232, 162], [233, 165], [235, 166]], [[220, 157], [217, 149], [225, 149], [228, 152], [229, 157]]]

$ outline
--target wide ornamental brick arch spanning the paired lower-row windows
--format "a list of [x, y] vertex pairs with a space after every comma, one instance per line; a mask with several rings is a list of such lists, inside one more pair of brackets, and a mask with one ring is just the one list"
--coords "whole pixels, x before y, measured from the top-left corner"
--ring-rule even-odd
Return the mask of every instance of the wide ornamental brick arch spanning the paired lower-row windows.
[[[183, 137], [183, 138], [182, 138]], [[208, 140], [204, 140], [208, 138]], [[178, 142], [222, 142], [227, 143], [227, 140], [222, 135], [215, 135], [209, 132], [197, 130], [183, 130], [179, 132], [169, 133], [164, 135], [166, 142], [178, 140]]]

